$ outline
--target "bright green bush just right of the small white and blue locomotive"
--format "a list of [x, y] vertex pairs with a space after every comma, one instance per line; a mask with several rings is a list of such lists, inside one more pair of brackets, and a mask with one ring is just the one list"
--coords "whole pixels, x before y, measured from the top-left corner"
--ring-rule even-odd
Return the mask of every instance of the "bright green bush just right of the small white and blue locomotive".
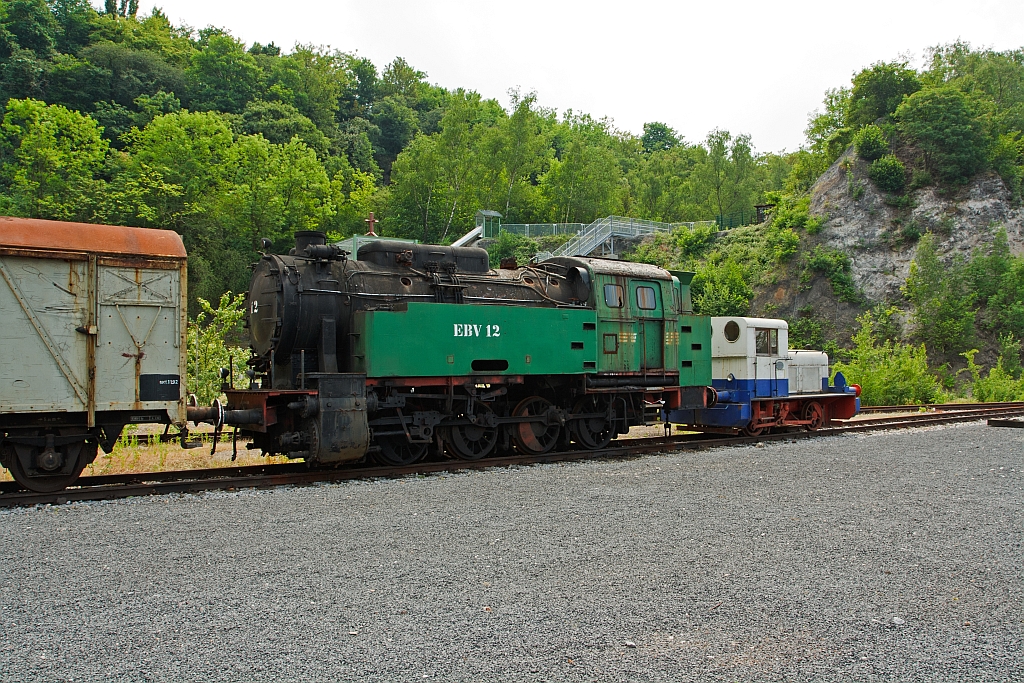
[[939, 384], [928, 370], [925, 345], [880, 343], [870, 313], [864, 313], [857, 322], [860, 328], [853, 337], [850, 360], [836, 362], [833, 371], [842, 372], [847, 382], [860, 385], [861, 402], [901, 405], [934, 401]]

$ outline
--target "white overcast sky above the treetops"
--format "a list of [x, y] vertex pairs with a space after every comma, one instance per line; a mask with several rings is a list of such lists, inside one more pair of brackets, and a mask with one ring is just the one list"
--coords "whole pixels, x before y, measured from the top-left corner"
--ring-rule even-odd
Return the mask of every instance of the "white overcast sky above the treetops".
[[[98, 4], [98, 3], [97, 3]], [[142, 2], [142, 7], [147, 3]], [[327, 45], [378, 69], [403, 56], [428, 80], [508, 103], [607, 117], [640, 133], [663, 121], [690, 141], [750, 133], [793, 151], [824, 90], [878, 60], [923, 62], [954, 40], [1024, 47], [1022, 0], [164, 0], [175, 24], [225, 28], [246, 43]]]

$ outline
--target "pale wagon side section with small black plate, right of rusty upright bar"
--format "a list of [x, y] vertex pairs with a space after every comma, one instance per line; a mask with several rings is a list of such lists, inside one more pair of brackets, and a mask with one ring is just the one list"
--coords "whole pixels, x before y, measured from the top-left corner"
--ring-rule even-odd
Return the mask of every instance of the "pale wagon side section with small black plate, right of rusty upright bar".
[[[150, 401], [179, 400], [179, 270], [101, 263], [97, 292], [96, 410], [144, 411]], [[132, 386], [134, 401], [125, 402]], [[132, 421], [147, 421], [140, 417]]]

